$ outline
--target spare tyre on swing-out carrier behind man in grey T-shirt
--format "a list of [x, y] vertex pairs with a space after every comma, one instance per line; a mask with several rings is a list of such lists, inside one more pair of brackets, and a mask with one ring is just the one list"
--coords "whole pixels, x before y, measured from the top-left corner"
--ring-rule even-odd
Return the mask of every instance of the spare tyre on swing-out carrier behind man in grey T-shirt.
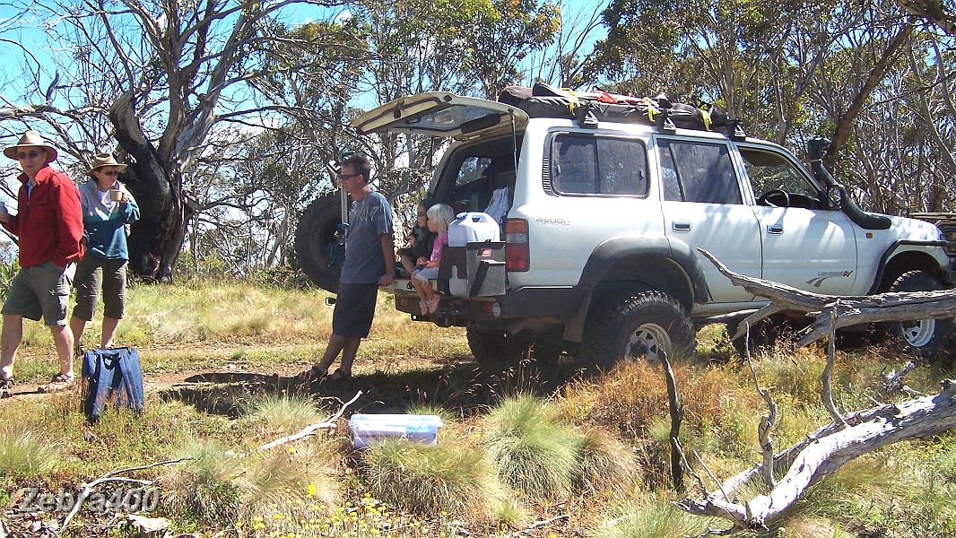
[[345, 246], [336, 232], [342, 223], [338, 191], [320, 196], [309, 204], [295, 228], [295, 255], [302, 269], [323, 290], [338, 291]]

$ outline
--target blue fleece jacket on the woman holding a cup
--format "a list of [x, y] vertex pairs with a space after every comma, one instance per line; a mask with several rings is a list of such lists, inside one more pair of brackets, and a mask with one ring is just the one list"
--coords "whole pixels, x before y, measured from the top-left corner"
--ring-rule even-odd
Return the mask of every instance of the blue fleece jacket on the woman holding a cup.
[[122, 183], [117, 182], [113, 188], [126, 193], [125, 204], [110, 201], [109, 194], [100, 192], [94, 179], [79, 187], [83, 237], [91, 254], [108, 260], [128, 260], [125, 225], [140, 219], [140, 206]]

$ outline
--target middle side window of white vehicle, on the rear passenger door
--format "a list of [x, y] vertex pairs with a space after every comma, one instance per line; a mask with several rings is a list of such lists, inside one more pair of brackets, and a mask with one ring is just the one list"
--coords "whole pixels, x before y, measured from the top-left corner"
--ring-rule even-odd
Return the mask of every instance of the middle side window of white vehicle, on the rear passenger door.
[[663, 199], [743, 204], [727, 144], [658, 139]]

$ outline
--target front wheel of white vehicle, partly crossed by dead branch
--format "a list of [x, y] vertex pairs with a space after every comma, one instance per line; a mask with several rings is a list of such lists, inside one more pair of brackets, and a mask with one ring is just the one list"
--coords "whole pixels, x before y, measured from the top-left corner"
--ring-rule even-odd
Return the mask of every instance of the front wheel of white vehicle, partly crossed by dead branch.
[[[945, 290], [943, 282], [923, 270], [902, 273], [890, 286], [890, 291]], [[895, 321], [887, 324], [890, 334], [902, 351], [925, 359], [938, 358], [952, 339], [953, 318]]]

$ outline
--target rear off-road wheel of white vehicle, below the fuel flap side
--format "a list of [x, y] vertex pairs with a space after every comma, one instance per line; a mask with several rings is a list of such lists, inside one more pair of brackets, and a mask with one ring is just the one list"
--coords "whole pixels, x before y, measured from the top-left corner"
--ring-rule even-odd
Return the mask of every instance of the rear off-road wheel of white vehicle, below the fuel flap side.
[[690, 358], [697, 341], [681, 305], [661, 291], [621, 288], [603, 293], [588, 314], [581, 350], [602, 370], [622, 358]]

